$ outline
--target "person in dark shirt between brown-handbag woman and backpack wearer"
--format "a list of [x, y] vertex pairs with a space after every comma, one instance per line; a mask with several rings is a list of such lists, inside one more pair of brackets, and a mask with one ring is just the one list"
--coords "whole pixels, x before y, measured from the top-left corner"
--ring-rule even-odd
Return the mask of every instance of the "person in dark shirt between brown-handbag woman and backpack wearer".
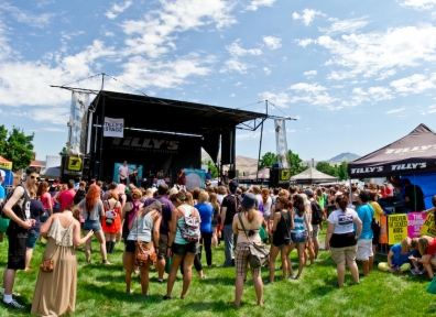
[[170, 238], [170, 228], [172, 226], [172, 215], [174, 205], [170, 201], [165, 195], [168, 192], [168, 185], [165, 183], [159, 185], [156, 197], [148, 198], [144, 203], [144, 206], [149, 206], [154, 200], [159, 200], [162, 203], [162, 220], [161, 228], [159, 231], [159, 253], [157, 253], [157, 282], [163, 283], [163, 276], [165, 273], [165, 264], [166, 264], [166, 254], [168, 250], [168, 238]]

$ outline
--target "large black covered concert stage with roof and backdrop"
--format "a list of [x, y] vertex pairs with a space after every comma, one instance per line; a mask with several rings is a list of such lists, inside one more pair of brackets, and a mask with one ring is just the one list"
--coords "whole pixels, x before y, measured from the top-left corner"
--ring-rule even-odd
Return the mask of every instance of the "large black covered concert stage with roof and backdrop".
[[[170, 168], [175, 178], [181, 167], [200, 167], [201, 147], [216, 163], [221, 151], [221, 165], [230, 164], [235, 170], [236, 129], [254, 131], [272, 118], [252, 111], [106, 90], [99, 91], [89, 110], [86, 146], [89, 177], [105, 181], [112, 174], [113, 164], [123, 160], [144, 165], [145, 171]], [[123, 139], [102, 135], [105, 117], [124, 119]], [[164, 142], [160, 152], [146, 150], [153, 140], [156, 144]], [[176, 142], [178, 149], [165, 147], [171, 142]]]

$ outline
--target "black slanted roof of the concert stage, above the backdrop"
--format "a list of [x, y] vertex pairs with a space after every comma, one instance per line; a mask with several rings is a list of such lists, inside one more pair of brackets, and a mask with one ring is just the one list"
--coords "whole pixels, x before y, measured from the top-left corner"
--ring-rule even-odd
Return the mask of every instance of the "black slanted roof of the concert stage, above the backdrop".
[[91, 102], [96, 116], [101, 113], [102, 96], [105, 117], [124, 118], [127, 128], [205, 135], [235, 127], [253, 131], [271, 118], [265, 113], [106, 90]]

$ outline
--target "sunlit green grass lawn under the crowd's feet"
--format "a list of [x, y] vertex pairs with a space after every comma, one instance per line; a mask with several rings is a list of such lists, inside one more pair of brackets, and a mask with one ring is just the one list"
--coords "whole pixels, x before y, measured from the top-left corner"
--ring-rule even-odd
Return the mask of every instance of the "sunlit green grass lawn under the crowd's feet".
[[[326, 228], [326, 226], [325, 226]], [[324, 229], [324, 234], [325, 234]], [[221, 243], [224, 244], [224, 243]], [[321, 251], [314, 265], [308, 265], [297, 281], [279, 281], [264, 286], [265, 306], [255, 305], [252, 280], [246, 283], [241, 308], [227, 307], [233, 299], [235, 270], [219, 269], [224, 262], [224, 247], [214, 251], [214, 269], [205, 269], [207, 280], [199, 280], [193, 273], [188, 295], [185, 299], [163, 300], [166, 284], [157, 284], [156, 273], [151, 273], [150, 297], [142, 298], [139, 278], [133, 278], [132, 295], [126, 295], [124, 274], [121, 272], [122, 244], [117, 244], [116, 253], [109, 254], [112, 266], [101, 265], [99, 252], [94, 251], [91, 264], [85, 263], [85, 253], [76, 252], [78, 262], [78, 285], [75, 316], [436, 316], [436, 298], [425, 289], [429, 284], [426, 276], [392, 275], [377, 269], [370, 277], [353, 285], [350, 273], [346, 275], [346, 286], [335, 288], [336, 266], [329, 252]], [[98, 244], [92, 242], [92, 249]], [[0, 264], [6, 266], [7, 240], [0, 243]], [[44, 247], [36, 245], [31, 267], [32, 272], [19, 271], [14, 292], [21, 293], [19, 302], [24, 310], [7, 309], [0, 304], [0, 316], [28, 316], [33, 297]], [[378, 256], [385, 261], [384, 256]], [[206, 261], [203, 259], [203, 261]], [[292, 253], [294, 270], [297, 270], [296, 251]], [[277, 263], [276, 277], [281, 276]], [[295, 271], [296, 272], [296, 271]], [[263, 280], [268, 270], [262, 269]], [[166, 276], [165, 276], [166, 277]], [[173, 297], [182, 292], [182, 281], [177, 280]]]

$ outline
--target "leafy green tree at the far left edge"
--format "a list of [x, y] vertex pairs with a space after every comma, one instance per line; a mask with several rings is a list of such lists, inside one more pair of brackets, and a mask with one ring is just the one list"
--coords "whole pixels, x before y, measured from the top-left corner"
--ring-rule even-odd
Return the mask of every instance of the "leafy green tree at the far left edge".
[[[7, 131], [7, 138], [3, 138], [4, 131]], [[26, 168], [32, 162], [34, 157], [32, 143], [34, 136], [34, 133], [24, 135], [24, 131], [17, 127], [8, 132], [4, 125], [0, 125], [0, 155], [12, 162], [13, 171]]]

